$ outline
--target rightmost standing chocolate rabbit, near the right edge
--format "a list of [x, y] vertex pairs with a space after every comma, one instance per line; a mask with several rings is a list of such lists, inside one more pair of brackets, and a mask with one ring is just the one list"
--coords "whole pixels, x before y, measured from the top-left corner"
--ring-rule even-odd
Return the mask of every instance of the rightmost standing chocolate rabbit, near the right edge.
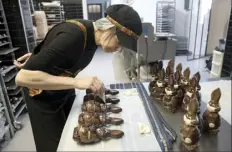
[[211, 94], [211, 100], [207, 104], [207, 110], [203, 114], [204, 131], [208, 131], [212, 134], [217, 134], [221, 125], [221, 118], [219, 112], [221, 107], [219, 100], [221, 98], [221, 90], [217, 88]]

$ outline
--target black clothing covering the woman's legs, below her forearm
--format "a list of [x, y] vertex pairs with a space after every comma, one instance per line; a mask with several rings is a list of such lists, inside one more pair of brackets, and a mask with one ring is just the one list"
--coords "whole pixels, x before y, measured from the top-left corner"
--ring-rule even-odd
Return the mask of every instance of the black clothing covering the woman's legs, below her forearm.
[[25, 96], [37, 152], [56, 152], [75, 95], [50, 103]]

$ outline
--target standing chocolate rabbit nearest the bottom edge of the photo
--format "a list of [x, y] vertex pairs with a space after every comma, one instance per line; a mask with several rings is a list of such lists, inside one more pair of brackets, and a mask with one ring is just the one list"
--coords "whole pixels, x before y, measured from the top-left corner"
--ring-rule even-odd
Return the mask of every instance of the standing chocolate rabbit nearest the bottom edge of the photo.
[[201, 133], [198, 128], [198, 108], [197, 99], [191, 99], [187, 108], [187, 113], [183, 118], [183, 124], [180, 128], [182, 144], [187, 150], [196, 150], [199, 146]]

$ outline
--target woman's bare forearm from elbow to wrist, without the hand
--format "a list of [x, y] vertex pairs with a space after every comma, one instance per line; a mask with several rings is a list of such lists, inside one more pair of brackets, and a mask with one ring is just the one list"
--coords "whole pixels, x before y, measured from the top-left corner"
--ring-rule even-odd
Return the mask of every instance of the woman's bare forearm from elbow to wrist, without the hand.
[[53, 76], [42, 71], [20, 70], [16, 76], [16, 84], [23, 87], [41, 90], [65, 90], [78, 88], [78, 79]]

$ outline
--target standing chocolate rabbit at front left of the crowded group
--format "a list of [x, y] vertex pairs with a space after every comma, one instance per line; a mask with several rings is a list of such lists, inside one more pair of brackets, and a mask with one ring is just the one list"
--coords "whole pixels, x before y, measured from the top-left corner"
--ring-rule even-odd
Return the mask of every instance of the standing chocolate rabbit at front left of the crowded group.
[[168, 79], [168, 86], [165, 88], [165, 95], [163, 97], [164, 108], [168, 111], [175, 112], [178, 106], [176, 98], [176, 90], [174, 89], [174, 76], [170, 75]]

